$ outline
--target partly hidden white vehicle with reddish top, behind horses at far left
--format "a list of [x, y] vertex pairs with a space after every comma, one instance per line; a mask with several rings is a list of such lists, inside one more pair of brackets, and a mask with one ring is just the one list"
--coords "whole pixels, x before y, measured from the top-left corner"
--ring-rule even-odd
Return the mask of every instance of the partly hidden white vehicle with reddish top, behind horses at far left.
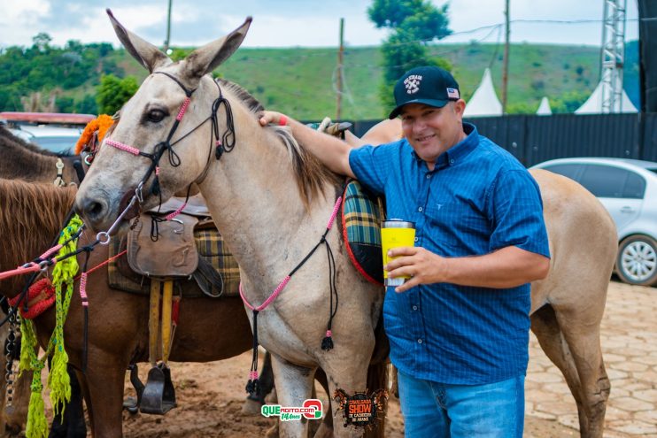
[[82, 130], [93, 119], [91, 114], [0, 112], [0, 122], [7, 124], [12, 134], [44, 150], [63, 154], [73, 153]]

